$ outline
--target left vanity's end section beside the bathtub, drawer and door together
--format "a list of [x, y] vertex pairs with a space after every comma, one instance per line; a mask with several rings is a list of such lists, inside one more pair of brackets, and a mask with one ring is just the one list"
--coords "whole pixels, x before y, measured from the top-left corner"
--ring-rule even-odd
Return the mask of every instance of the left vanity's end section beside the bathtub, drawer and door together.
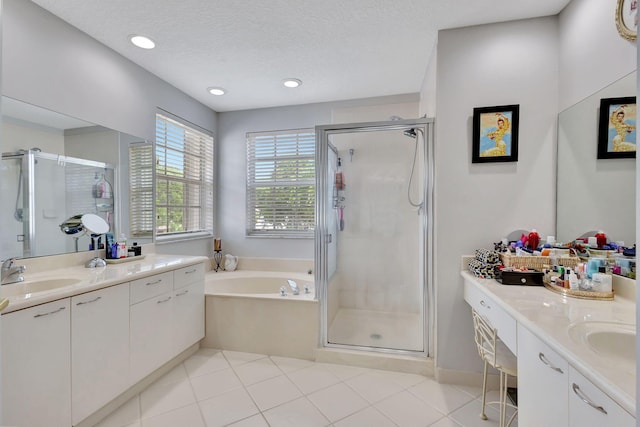
[[204, 264], [173, 274], [172, 341], [178, 354], [204, 338]]

